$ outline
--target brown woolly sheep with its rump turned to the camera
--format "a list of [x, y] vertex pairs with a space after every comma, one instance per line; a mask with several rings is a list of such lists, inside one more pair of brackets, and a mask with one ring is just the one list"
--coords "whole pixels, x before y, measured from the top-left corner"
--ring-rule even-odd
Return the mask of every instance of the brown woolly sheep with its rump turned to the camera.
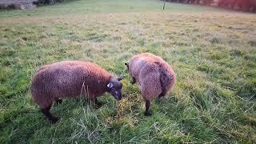
[[142, 53], [130, 58], [125, 63], [132, 77], [132, 84], [138, 82], [141, 86], [142, 98], [145, 100], [145, 115], [151, 115], [150, 102], [155, 98], [166, 95], [176, 81], [174, 70], [160, 57]]

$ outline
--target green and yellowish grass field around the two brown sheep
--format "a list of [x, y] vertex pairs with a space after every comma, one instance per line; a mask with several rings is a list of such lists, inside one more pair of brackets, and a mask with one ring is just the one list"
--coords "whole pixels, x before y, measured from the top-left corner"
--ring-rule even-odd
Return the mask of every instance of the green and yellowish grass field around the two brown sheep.
[[[124, 62], [150, 52], [178, 80], [144, 116]], [[256, 15], [157, 0], [80, 0], [0, 12], [1, 143], [256, 142]], [[122, 75], [123, 98], [66, 99], [55, 125], [32, 102], [39, 66], [95, 62]]]

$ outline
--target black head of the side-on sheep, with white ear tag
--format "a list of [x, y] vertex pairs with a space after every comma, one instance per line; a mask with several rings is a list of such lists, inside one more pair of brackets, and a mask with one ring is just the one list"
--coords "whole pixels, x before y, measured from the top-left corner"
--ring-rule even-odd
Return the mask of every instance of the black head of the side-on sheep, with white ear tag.
[[110, 78], [110, 83], [107, 84], [108, 93], [114, 96], [115, 99], [121, 100], [122, 99], [122, 78]]

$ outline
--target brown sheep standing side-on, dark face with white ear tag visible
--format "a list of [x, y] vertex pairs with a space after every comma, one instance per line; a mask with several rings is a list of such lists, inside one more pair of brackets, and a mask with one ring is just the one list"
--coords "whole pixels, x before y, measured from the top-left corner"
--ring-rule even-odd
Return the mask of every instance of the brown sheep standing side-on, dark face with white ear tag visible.
[[114, 78], [102, 67], [91, 62], [62, 61], [39, 68], [30, 86], [32, 98], [50, 122], [58, 118], [50, 114], [53, 102], [62, 98], [86, 95], [95, 106], [102, 106], [97, 97], [105, 92], [122, 99], [122, 78]]

